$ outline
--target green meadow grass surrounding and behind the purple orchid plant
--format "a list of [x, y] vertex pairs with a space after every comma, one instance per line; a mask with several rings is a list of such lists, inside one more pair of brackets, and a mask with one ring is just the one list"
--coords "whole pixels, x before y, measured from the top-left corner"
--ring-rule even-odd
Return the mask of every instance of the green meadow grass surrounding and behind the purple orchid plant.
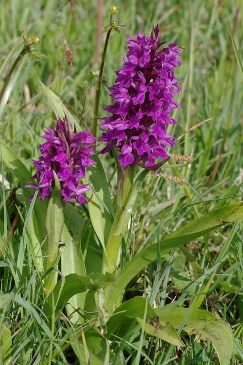
[[[104, 26], [108, 24], [110, 4], [110, 1], [105, 1]], [[163, 40], [176, 42], [185, 48], [182, 66], [176, 71], [177, 77], [181, 79], [182, 91], [177, 98], [181, 108], [174, 112], [174, 117], [180, 124], [175, 128], [173, 126], [171, 132], [178, 137], [197, 123], [212, 118], [200, 128], [187, 133], [171, 150], [172, 153], [193, 157], [200, 154], [195, 162], [182, 167], [170, 167], [167, 164], [158, 171], [185, 179], [186, 186], [157, 175], [146, 177], [130, 230], [122, 243], [121, 265], [124, 266], [142, 247], [156, 242], [157, 237], [159, 241], [161, 235], [165, 236], [181, 224], [205, 215], [214, 207], [220, 208], [239, 201], [242, 197], [243, 90], [240, 46], [243, 14], [240, 0], [120, 0], [117, 5], [120, 8], [119, 23], [125, 28], [121, 34], [111, 33], [104, 66], [108, 85], [113, 84], [114, 71], [122, 65], [127, 37], [135, 36], [137, 30], [149, 34], [152, 24], [158, 22]], [[38, 145], [42, 141], [43, 127], [51, 127], [55, 123], [55, 116], [45, 95], [42, 93], [35, 97], [41, 88], [34, 72], [45, 84], [55, 80], [52, 90], [80, 121], [82, 128], [92, 128], [95, 89], [87, 87], [87, 76], [90, 71], [99, 70], [95, 64], [97, 3], [94, 0], [77, 0], [71, 6], [69, 2], [60, 0], [1, 0], [0, 67], [30, 18], [28, 29], [32, 36], [41, 38], [38, 49], [47, 58], [35, 62], [25, 55], [19, 63], [9, 84], [11, 93], [8, 102], [0, 104], [0, 138], [33, 172], [32, 158], [39, 157]], [[65, 57], [66, 49], [60, 30], [72, 51], [73, 66], [68, 65]], [[104, 45], [105, 34], [102, 37]], [[3, 70], [0, 89], [7, 71], [20, 52], [22, 41], [20, 45]], [[108, 103], [110, 97], [103, 84], [100, 117], [105, 115], [102, 107]], [[106, 156], [102, 162], [107, 177], [111, 178], [111, 194], [114, 196], [114, 160]], [[33, 261], [36, 253], [33, 254], [34, 248], [30, 244], [28, 225], [23, 229], [28, 214], [21, 189], [16, 192], [17, 199], [13, 197], [12, 189], [17, 187], [17, 180], [3, 163], [0, 169], [5, 179], [2, 179], [0, 188], [0, 291], [19, 294], [14, 299], [9, 298], [9, 303], [1, 305], [0, 302], [0, 353], [7, 347], [8, 341], [12, 341], [11, 359], [4, 364], [86, 364], [88, 361], [84, 361], [79, 349], [82, 337], [80, 332], [76, 336], [78, 330], [69, 321], [67, 312], [64, 311], [57, 318], [53, 314], [52, 320], [46, 318], [43, 309], [46, 294], [42, 272], [38, 272], [36, 263], [39, 254], [37, 261]], [[82, 207], [81, 211], [86, 219], [81, 239], [83, 255], [92, 247], [94, 255], [98, 255], [99, 247], [87, 209]], [[11, 226], [13, 234], [9, 235]], [[126, 299], [134, 295], [144, 296], [156, 307], [175, 301], [178, 305], [189, 306], [194, 303], [199, 291], [198, 283], [202, 282], [200, 288], [203, 289], [216, 270], [200, 308], [218, 314], [233, 329], [235, 342], [231, 364], [234, 365], [242, 361], [241, 228], [241, 222], [227, 224], [186, 246], [205, 276], [196, 273], [193, 260], [186, 259], [180, 249], [176, 249], [140, 273], [124, 293]], [[92, 260], [86, 264], [89, 274], [93, 270]], [[184, 334], [182, 338], [186, 344], [183, 349], [139, 330], [124, 338], [113, 338], [112, 344], [104, 340], [105, 364], [109, 364], [109, 361], [111, 364], [133, 365], [218, 364], [210, 341], [202, 341], [198, 335]], [[92, 342], [95, 343], [95, 340], [89, 339], [88, 346]], [[110, 360], [109, 351], [106, 350], [109, 346], [117, 356]]]

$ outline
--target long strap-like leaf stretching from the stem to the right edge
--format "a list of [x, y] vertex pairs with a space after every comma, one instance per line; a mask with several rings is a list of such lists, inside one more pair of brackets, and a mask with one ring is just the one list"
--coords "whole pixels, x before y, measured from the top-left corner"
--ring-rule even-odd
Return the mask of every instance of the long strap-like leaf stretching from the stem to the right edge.
[[[243, 202], [232, 203], [213, 210], [201, 218], [194, 219], [162, 239], [160, 242], [160, 254], [161, 256], [165, 255], [226, 223], [235, 222], [241, 219], [243, 219]], [[140, 251], [139, 254], [134, 256], [127, 265], [117, 273], [117, 285], [114, 288], [106, 288], [105, 306], [107, 310], [112, 310], [127, 284], [139, 274], [141, 270], [155, 261], [156, 258], [157, 244], [155, 243]]]

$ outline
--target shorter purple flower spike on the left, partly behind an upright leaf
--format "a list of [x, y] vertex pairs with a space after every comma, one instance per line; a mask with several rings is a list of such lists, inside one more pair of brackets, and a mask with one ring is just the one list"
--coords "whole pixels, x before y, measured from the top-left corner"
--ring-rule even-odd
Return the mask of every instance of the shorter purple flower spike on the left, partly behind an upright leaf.
[[[52, 171], [55, 171], [60, 181], [63, 200], [86, 203], [83, 194], [89, 188], [87, 184], [80, 185], [79, 182], [80, 178], [85, 177], [86, 167], [95, 164], [89, 158], [89, 155], [94, 155], [95, 152], [88, 147], [93, 146], [96, 138], [91, 136], [88, 130], [77, 133], [75, 126], [73, 130], [67, 117], [63, 122], [57, 120], [56, 129], [46, 127], [42, 138], [47, 142], [39, 146], [42, 156], [39, 160], [33, 161], [36, 172], [32, 177], [39, 184], [40, 200], [51, 196], [51, 187], [54, 186]], [[36, 189], [37, 184], [30, 183], [25, 187]]]

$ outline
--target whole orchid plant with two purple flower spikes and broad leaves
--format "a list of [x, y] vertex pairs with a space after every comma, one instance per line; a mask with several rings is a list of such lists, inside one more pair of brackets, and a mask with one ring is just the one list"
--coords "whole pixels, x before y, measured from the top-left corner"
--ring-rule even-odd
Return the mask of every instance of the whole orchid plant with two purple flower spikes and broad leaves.
[[[110, 25], [105, 28], [108, 38], [102, 70], [110, 33], [117, 30], [112, 19], [117, 12], [113, 5]], [[39, 80], [57, 122], [54, 128], [46, 127], [42, 135], [45, 143], [39, 146], [39, 159], [33, 161], [32, 177], [20, 161], [14, 167], [16, 156], [1, 141], [2, 159], [16, 174], [31, 212], [25, 229], [35, 270], [43, 283], [43, 311], [50, 323], [53, 316], [67, 313], [80, 339], [78, 349], [72, 338], [69, 344], [75, 353], [81, 353], [84, 364], [104, 364], [103, 345], [94, 346], [95, 336], [99, 343], [108, 344], [109, 356], [115, 359], [118, 348], [114, 339], [122, 337], [126, 341], [139, 329], [175, 347], [184, 347], [181, 331], [200, 333], [203, 339], [212, 341], [220, 364], [227, 365], [233, 349], [232, 331], [214, 314], [200, 310], [207, 292], [205, 279], [215, 268], [204, 272], [185, 247], [183, 253], [199, 275], [191, 288], [195, 297], [189, 308], [180, 303], [176, 306], [176, 302], [173, 306], [154, 306], [146, 293], [129, 300], [123, 298], [124, 289], [152, 262], [161, 263], [176, 248], [226, 222], [239, 220], [242, 215], [241, 204], [233, 203], [166, 237], [158, 229], [157, 242], [142, 245], [130, 261], [121, 260], [124, 237], [126, 244], [131, 243], [133, 210], [141, 185], [146, 186], [146, 176], [153, 178], [165, 164], [175, 165], [170, 148], [176, 137], [167, 129], [177, 124], [172, 113], [179, 107], [174, 97], [180, 86], [174, 69], [181, 64], [184, 49], [175, 43], [166, 46], [158, 25], [152, 27], [150, 36], [138, 32], [137, 38], [129, 38], [127, 43], [127, 58], [121, 70], [116, 71], [115, 84], [109, 88], [114, 102], [104, 107], [108, 116], [98, 114], [100, 72], [93, 135], [89, 130], [81, 130], [60, 99]], [[101, 130], [99, 137], [97, 124]], [[117, 193], [113, 198], [103, 167], [108, 155], [116, 165], [112, 178], [117, 177]], [[87, 219], [92, 223], [89, 232], [85, 228]], [[217, 338], [220, 332], [226, 334], [221, 341]], [[173, 347], [169, 348], [172, 352]]]

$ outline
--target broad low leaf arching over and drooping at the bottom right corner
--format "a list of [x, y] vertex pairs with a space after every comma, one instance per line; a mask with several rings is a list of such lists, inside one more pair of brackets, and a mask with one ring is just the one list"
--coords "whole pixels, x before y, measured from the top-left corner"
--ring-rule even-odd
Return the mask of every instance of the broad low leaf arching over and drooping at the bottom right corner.
[[[174, 327], [179, 328], [185, 318], [187, 308], [166, 307], [155, 309], [161, 321], [170, 321]], [[229, 365], [233, 353], [233, 333], [222, 319], [207, 310], [191, 310], [183, 331], [189, 334], [200, 334], [202, 340], [209, 339], [217, 352], [221, 365]]]

